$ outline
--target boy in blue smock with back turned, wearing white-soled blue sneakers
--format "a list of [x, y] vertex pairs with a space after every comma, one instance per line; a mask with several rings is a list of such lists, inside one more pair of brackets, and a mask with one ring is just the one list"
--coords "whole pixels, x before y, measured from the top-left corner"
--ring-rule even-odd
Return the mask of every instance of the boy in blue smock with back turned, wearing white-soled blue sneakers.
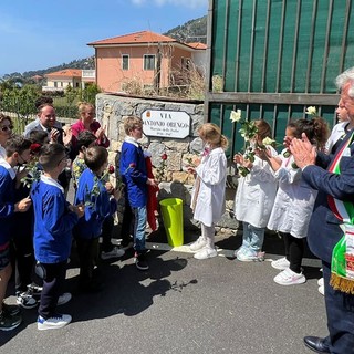
[[[58, 176], [67, 163], [65, 147], [48, 144], [41, 148], [39, 163], [43, 168], [40, 180], [31, 188], [34, 208], [34, 256], [43, 290], [37, 325], [39, 330], [55, 330], [71, 322], [71, 315], [59, 314], [56, 305], [65, 281], [71, 251], [72, 229], [84, 214], [83, 206], [71, 206]], [[65, 293], [70, 300], [71, 294]]]

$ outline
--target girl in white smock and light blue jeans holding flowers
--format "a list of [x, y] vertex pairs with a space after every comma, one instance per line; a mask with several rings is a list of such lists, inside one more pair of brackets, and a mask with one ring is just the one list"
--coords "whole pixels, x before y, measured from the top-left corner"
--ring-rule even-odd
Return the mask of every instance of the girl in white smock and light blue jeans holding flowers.
[[[266, 121], [256, 121], [258, 129], [256, 140], [263, 145], [263, 139], [271, 137], [271, 128]], [[271, 156], [277, 156], [272, 146], [267, 146]], [[266, 227], [274, 204], [278, 181], [270, 165], [254, 156], [254, 162], [244, 159], [241, 154], [233, 156], [233, 162], [250, 170], [238, 181], [235, 196], [235, 217], [242, 221], [242, 246], [235, 251], [235, 257], [240, 261], [262, 261], [264, 252], [262, 246]]]

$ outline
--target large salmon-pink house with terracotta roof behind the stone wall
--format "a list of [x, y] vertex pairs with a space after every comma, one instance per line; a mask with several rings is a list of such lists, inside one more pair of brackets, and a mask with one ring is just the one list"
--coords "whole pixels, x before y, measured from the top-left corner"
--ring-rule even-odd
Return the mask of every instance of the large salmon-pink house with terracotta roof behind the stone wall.
[[96, 84], [106, 92], [124, 91], [128, 84], [142, 87], [168, 87], [176, 73], [196, 64], [206, 65], [206, 45], [142, 31], [88, 43], [95, 49]]

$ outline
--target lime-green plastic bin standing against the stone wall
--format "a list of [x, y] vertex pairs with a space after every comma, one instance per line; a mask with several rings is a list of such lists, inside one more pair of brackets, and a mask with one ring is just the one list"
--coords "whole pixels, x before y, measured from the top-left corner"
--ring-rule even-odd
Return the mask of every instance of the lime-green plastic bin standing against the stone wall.
[[159, 205], [168, 244], [171, 247], [184, 244], [184, 201], [179, 198], [167, 198]]

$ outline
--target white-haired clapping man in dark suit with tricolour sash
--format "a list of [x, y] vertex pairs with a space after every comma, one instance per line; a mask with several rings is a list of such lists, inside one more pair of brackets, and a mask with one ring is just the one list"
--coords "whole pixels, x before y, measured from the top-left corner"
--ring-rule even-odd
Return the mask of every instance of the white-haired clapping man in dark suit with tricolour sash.
[[[339, 75], [336, 85], [341, 91], [340, 105], [345, 107], [353, 124], [354, 67]], [[332, 197], [340, 202], [354, 202], [352, 134], [353, 131], [346, 135], [335, 155], [332, 156], [316, 153], [305, 136], [302, 140], [293, 139], [290, 146], [296, 165], [302, 168], [302, 178], [312, 188], [319, 190], [309, 226], [308, 242], [311, 251], [322, 260], [329, 335], [324, 339], [304, 337], [305, 345], [316, 353], [354, 353], [354, 293], [344, 293], [330, 285], [332, 251], [343, 237], [343, 230], [340, 227], [343, 221], [334, 215], [329, 204]], [[340, 158], [340, 174], [329, 170], [329, 168], [332, 169], [335, 158]]]

